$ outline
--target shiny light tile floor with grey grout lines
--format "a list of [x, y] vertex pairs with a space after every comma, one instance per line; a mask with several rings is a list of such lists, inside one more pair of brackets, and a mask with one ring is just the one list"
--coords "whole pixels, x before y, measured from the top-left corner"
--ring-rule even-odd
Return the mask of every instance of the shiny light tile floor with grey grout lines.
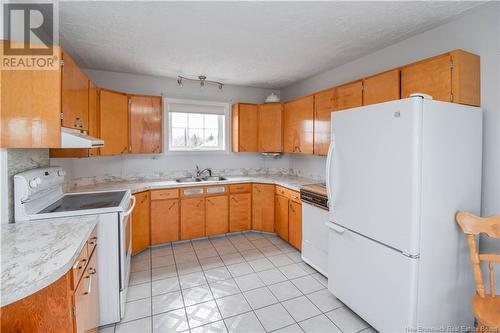
[[131, 271], [125, 317], [100, 332], [375, 332], [274, 234], [154, 247]]

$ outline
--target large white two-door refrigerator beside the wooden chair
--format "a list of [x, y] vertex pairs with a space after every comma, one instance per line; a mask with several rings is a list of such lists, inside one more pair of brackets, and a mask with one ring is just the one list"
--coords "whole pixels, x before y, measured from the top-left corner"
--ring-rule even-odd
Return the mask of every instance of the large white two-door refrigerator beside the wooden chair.
[[380, 332], [472, 327], [458, 210], [478, 214], [482, 111], [422, 97], [332, 116], [328, 288]]

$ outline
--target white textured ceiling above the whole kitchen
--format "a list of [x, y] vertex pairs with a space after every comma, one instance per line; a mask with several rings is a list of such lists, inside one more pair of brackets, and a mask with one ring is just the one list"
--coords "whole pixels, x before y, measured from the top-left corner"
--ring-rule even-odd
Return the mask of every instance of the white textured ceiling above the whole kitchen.
[[60, 2], [60, 43], [90, 69], [282, 88], [480, 2]]

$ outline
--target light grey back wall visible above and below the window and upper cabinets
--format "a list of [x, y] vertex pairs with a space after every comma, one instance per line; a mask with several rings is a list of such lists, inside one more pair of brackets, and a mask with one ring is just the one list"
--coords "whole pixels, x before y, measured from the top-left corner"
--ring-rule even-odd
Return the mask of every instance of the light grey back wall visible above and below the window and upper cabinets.
[[[184, 98], [219, 102], [262, 103], [273, 91], [270, 89], [224, 86], [220, 92], [216, 86], [201, 88], [195, 82], [184, 82], [179, 87], [177, 81], [165, 77], [153, 77], [127, 73], [86, 70], [89, 77], [99, 87], [137, 94], [162, 94], [167, 98]], [[277, 91], [274, 91], [277, 93]], [[208, 157], [209, 156], [209, 157]], [[119, 180], [123, 178], [158, 179], [191, 175], [196, 165], [200, 168], [212, 167], [219, 174], [241, 175], [248, 173], [288, 172], [288, 156], [278, 159], [260, 154], [148, 154], [124, 155], [96, 158], [56, 158], [51, 165], [60, 165], [67, 171], [67, 179], [73, 179], [69, 186], [85, 185], [93, 182]]]

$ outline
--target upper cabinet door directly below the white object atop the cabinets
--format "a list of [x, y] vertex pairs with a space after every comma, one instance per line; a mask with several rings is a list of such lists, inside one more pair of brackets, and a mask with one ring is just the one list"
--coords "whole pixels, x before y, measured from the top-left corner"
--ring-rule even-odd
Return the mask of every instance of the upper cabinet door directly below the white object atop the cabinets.
[[282, 105], [280, 103], [259, 105], [259, 151], [283, 151]]

